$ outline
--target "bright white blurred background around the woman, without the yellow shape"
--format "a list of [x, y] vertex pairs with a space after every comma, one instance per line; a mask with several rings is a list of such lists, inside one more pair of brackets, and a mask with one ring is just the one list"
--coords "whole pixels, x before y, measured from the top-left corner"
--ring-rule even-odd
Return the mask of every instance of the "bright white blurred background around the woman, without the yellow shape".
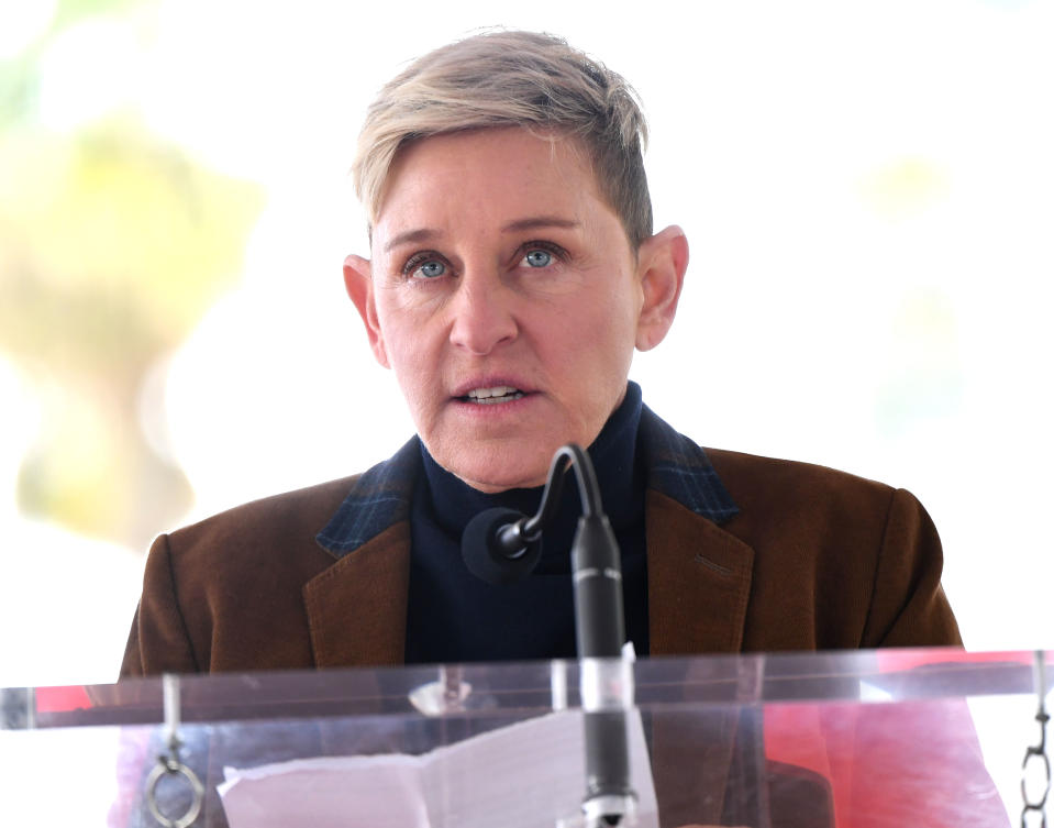
[[[0, 56], [48, 9], [5, 2]], [[645, 402], [706, 445], [911, 489], [967, 647], [1050, 647], [1044, 0], [162, 0], [71, 27], [43, 57], [47, 129], [133, 106], [266, 192], [236, 287], [141, 388], [146, 439], [195, 493], [156, 531], [362, 471], [410, 435], [343, 290], [343, 256], [366, 252], [346, 170], [382, 82], [499, 24], [566, 36], [644, 100], [656, 223], [691, 243], [674, 331], [634, 365]], [[144, 550], [18, 512], [44, 393], [0, 353], [0, 685], [109, 682]]]

